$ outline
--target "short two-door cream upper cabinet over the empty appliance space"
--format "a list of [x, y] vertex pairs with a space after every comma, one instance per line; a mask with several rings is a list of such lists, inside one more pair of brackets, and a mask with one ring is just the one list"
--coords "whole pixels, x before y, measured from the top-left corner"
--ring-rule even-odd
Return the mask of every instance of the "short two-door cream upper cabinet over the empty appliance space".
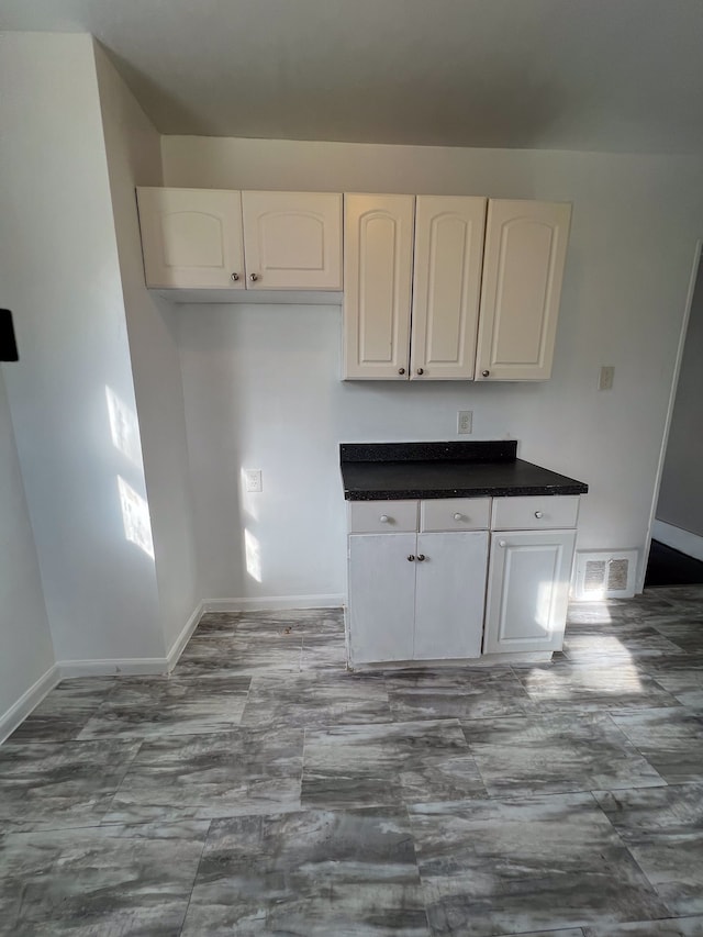
[[342, 196], [137, 189], [146, 285], [341, 290]]

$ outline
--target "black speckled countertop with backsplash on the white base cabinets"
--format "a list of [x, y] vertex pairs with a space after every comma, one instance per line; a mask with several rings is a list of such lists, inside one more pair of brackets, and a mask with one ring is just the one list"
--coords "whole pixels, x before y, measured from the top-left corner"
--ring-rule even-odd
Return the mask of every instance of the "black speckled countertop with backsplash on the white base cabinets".
[[476, 443], [343, 443], [347, 501], [585, 494], [588, 484], [516, 458], [514, 439]]

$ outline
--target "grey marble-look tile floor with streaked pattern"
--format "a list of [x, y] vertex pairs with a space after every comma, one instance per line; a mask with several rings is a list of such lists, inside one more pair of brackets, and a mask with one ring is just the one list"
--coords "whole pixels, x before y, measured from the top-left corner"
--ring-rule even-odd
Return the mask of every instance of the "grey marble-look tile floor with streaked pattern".
[[345, 670], [342, 613], [211, 613], [0, 746], [0, 935], [703, 937], [703, 587], [532, 666]]

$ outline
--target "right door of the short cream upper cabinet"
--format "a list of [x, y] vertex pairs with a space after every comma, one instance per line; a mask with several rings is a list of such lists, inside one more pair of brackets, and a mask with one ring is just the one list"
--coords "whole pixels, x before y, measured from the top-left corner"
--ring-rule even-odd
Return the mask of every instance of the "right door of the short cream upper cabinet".
[[242, 192], [247, 289], [342, 289], [342, 193]]

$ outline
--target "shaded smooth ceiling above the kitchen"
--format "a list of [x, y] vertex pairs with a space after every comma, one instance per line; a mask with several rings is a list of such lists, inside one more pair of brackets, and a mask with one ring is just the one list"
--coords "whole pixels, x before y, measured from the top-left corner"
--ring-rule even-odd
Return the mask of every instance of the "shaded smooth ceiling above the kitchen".
[[701, 0], [0, 0], [161, 133], [703, 153]]

